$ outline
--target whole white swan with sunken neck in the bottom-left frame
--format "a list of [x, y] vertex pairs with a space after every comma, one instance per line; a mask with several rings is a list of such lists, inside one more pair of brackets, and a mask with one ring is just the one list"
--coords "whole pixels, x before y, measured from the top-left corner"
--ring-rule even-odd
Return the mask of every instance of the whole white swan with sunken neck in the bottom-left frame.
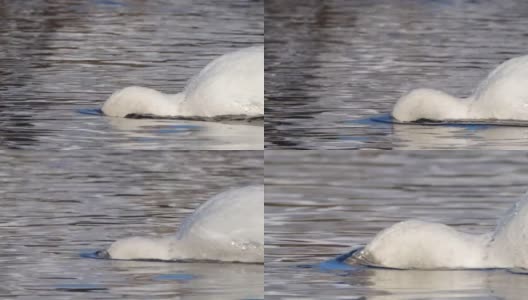
[[175, 236], [115, 241], [98, 257], [112, 259], [264, 261], [264, 187], [222, 192], [187, 217]]

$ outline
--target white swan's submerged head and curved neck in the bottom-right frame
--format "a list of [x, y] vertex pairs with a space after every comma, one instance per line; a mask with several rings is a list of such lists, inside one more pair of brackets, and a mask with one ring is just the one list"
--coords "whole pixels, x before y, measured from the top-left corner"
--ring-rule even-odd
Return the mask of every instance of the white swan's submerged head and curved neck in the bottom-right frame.
[[444, 224], [409, 220], [376, 237], [354, 259], [398, 269], [479, 268], [485, 266], [490, 235], [472, 235]]

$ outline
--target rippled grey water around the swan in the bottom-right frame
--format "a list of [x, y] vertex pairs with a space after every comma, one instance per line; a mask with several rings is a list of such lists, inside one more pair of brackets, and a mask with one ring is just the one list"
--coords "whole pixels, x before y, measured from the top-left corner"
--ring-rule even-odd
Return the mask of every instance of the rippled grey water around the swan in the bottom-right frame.
[[[479, 151], [267, 151], [266, 299], [525, 299], [495, 271], [305, 269], [409, 218], [492, 230], [528, 190], [528, 156]], [[365, 297], [365, 298], [362, 298]]]

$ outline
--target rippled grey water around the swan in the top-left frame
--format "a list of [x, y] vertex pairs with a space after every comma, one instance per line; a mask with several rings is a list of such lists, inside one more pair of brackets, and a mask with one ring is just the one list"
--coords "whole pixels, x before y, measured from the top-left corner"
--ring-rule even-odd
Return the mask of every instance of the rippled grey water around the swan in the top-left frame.
[[263, 126], [82, 115], [262, 44], [263, 1], [0, 1], [0, 148], [262, 149]]

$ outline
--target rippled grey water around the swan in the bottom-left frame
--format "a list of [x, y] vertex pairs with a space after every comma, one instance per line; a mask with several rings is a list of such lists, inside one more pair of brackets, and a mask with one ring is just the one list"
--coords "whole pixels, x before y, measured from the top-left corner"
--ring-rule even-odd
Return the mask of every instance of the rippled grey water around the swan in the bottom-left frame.
[[110, 261], [80, 254], [174, 234], [233, 185], [262, 183], [262, 151], [20, 152], [0, 156], [0, 295], [19, 299], [262, 299], [264, 266]]

